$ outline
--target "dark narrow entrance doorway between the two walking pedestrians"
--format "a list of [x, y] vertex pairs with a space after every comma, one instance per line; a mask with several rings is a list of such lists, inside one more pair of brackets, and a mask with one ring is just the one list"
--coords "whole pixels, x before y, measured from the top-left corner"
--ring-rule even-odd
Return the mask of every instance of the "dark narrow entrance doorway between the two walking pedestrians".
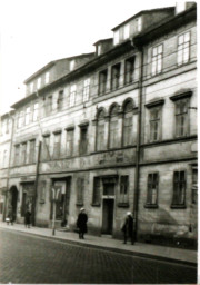
[[112, 235], [114, 199], [103, 199], [102, 234]]

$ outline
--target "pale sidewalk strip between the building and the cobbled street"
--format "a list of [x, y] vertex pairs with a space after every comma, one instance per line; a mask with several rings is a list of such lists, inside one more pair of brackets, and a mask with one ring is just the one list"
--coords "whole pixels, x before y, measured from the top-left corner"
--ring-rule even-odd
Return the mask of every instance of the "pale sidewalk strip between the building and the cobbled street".
[[56, 230], [56, 235], [52, 236], [51, 228], [41, 228], [41, 227], [31, 227], [26, 228], [24, 225], [21, 224], [13, 224], [7, 225], [4, 222], [0, 222], [0, 228], [6, 228], [9, 230], [19, 230], [29, 233], [32, 235], [39, 235], [44, 237], [52, 237], [56, 239], [61, 240], [69, 240], [70, 243], [76, 244], [84, 244], [88, 246], [99, 247], [99, 248], [109, 248], [114, 252], [122, 252], [126, 254], [132, 254], [134, 256], [146, 256], [157, 259], [166, 259], [169, 261], [173, 259], [174, 262], [188, 262], [188, 263], [197, 263], [197, 252], [196, 250], [188, 250], [182, 248], [174, 248], [174, 247], [164, 247], [159, 245], [152, 244], [144, 244], [144, 243], [136, 243], [134, 245], [131, 244], [123, 244], [122, 240], [109, 238], [109, 237], [99, 237], [99, 236], [91, 236], [86, 235], [86, 239], [79, 239], [78, 234], [73, 232], [61, 232]]

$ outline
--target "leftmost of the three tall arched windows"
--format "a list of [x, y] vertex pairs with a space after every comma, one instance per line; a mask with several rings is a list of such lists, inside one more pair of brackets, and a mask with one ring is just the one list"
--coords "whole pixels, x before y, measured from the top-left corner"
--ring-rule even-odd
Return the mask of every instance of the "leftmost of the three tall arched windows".
[[96, 148], [97, 148], [97, 150], [104, 149], [104, 111], [103, 110], [101, 110], [98, 114]]

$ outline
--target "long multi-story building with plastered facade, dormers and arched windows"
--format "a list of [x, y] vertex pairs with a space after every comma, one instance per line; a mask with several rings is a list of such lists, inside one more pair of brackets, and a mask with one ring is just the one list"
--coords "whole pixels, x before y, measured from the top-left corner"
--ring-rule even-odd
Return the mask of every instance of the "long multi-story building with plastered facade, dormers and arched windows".
[[51, 226], [59, 189], [56, 218], [71, 229], [83, 206], [93, 234], [120, 238], [131, 210], [139, 239], [197, 240], [196, 27], [193, 3], [141, 11], [97, 41], [94, 57], [26, 80], [12, 106], [17, 222], [29, 205], [36, 225]]

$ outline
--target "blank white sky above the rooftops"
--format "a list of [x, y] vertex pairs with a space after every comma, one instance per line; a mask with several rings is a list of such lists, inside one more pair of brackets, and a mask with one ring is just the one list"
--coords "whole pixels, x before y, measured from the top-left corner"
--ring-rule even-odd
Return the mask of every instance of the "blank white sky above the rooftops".
[[141, 10], [176, 0], [0, 0], [0, 114], [24, 97], [23, 81], [52, 60], [93, 43]]

